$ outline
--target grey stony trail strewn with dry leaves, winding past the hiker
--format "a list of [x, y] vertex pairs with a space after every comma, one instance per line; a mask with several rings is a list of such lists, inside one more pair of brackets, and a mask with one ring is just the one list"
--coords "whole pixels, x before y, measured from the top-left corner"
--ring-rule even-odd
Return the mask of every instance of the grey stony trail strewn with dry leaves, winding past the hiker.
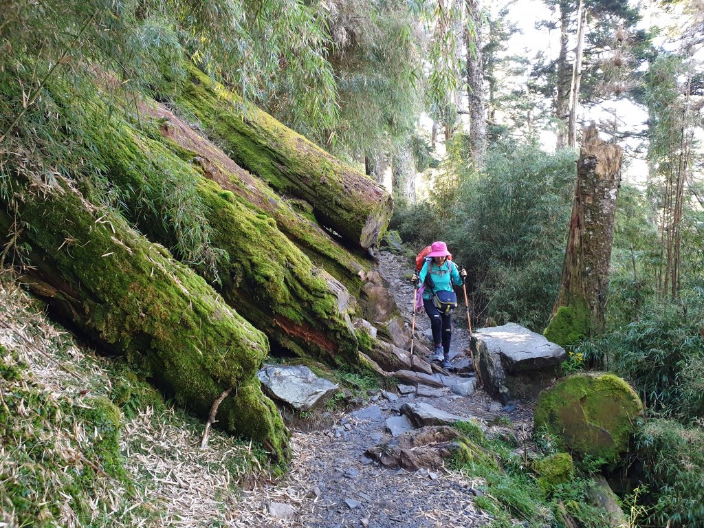
[[[389, 283], [403, 318], [410, 327], [413, 287], [404, 279], [408, 265], [401, 256], [382, 251], [377, 255], [379, 271]], [[463, 306], [458, 314], [463, 314]], [[429, 321], [424, 313], [415, 320], [416, 339], [427, 350]], [[466, 329], [453, 327], [452, 362], [466, 365], [469, 346]], [[460, 369], [460, 371], [463, 369]], [[472, 527], [490, 522], [489, 514], [474, 507], [472, 498], [482, 491], [481, 480], [472, 480], [448, 467], [415, 471], [389, 468], [367, 456], [367, 449], [388, 444], [413, 428], [401, 408], [427, 404], [432, 415], [451, 413], [483, 427], [513, 429], [527, 438], [532, 427], [532, 410], [518, 405], [502, 408], [483, 391], [453, 394], [451, 386], [474, 380], [474, 373], [436, 375], [443, 386], [399, 384], [398, 394], [379, 391], [356, 410], [327, 415], [326, 425], [306, 430], [294, 425], [291, 471], [279, 482], [258, 484], [246, 491], [238, 503], [239, 520], [249, 517], [251, 526], [291, 527]], [[472, 384], [470, 384], [471, 387]], [[456, 391], [456, 390], [455, 390]], [[424, 410], [424, 406], [420, 406]], [[427, 410], [427, 408], [425, 408]], [[510, 412], [504, 412], [510, 410]], [[406, 411], [408, 413], [408, 410]], [[438, 422], [432, 417], [415, 417], [417, 424]], [[329, 424], [329, 425], [327, 425]], [[393, 429], [393, 431], [392, 431]], [[242, 509], [244, 508], [244, 510]], [[249, 511], [246, 511], [249, 510]]]

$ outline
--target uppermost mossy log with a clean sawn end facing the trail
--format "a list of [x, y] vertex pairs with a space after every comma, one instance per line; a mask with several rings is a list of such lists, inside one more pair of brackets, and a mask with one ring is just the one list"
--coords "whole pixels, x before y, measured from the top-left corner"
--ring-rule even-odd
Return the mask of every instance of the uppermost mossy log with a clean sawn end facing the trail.
[[232, 160], [280, 194], [310, 203], [322, 225], [349, 244], [368, 248], [386, 230], [393, 201], [376, 182], [241, 99], [194, 65], [176, 103], [201, 120]]

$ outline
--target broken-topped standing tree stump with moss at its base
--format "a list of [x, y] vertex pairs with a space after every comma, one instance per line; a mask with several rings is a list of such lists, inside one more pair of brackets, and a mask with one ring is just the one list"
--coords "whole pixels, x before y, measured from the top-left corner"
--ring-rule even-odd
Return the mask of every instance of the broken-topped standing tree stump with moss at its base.
[[603, 329], [622, 156], [596, 126], [584, 130], [560, 293], [544, 332], [561, 346]]

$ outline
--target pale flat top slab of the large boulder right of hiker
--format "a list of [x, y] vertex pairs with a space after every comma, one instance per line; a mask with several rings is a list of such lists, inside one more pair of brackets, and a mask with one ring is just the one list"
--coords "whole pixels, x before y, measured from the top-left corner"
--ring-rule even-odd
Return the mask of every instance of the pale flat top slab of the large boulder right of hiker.
[[480, 328], [474, 332], [486, 349], [501, 355], [506, 372], [524, 372], [554, 367], [565, 360], [565, 349], [541, 334], [509, 322], [500, 327]]

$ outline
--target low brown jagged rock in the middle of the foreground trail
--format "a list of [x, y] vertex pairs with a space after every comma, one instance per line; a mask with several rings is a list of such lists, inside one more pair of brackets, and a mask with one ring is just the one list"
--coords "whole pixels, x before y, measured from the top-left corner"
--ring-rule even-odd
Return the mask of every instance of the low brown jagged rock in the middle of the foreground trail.
[[452, 427], [423, 427], [369, 448], [365, 454], [385, 467], [403, 467], [408, 471], [422, 467], [436, 469], [445, 460], [463, 453], [465, 442], [463, 434]]

